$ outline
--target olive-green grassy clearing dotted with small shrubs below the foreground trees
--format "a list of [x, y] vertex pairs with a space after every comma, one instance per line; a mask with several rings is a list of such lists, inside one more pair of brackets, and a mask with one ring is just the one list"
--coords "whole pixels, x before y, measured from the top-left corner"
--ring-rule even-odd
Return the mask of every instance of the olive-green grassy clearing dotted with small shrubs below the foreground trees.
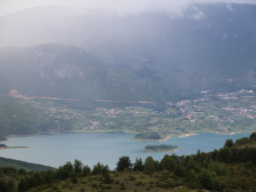
[[[153, 175], [145, 175], [140, 172], [131, 173], [112, 173], [111, 178], [114, 179], [113, 184], [102, 184], [102, 176], [89, 176], [78, 179], [78, 183], [71, 183], [70, 181], [60, 181], [52, 185], [52, 189], [59, 189], [61, 192], [81, 191], [83, 188], [85, 191], [154, 191], [153, 186], [159, 182], [159, 178], [162, 174], [155, 173]], [[179, 181], [179, 179], [176, 179]], [[118, 183], [118, 184], [115, 184]], [[122, 188], [122, 183], [123, 187]], [[106, 189], [109, 188], [109, 189]], [[160, 189], [159, 189], [160, 190]], [[167, 188], [162, 188], [162, 191], [169, 191]], [[33, 190], [32, 190], [33, 191]], [[42, 190], [44, 192], [49, 191], [49, 188]], [[177, 190], [179, 191], [179, 190]], [[190, 191], [190, 190], [188, 190]]]

